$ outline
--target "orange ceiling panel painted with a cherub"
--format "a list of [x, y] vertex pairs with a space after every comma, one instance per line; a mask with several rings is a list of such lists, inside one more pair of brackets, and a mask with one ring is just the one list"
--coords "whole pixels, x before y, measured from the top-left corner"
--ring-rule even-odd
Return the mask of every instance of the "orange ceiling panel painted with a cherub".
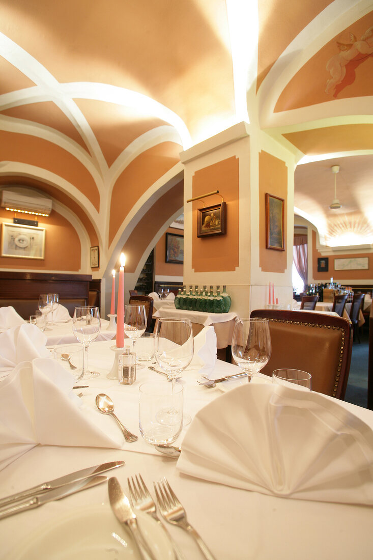
[[[353, 49], [353, 42], [360, 40], [372, 25], [373, 12], [370, 12], [335, 35], [295, 74], [279, 95], [274, 112], [299, 109], [333, 99], [373, 95], [373, 57], [359, 53], [358, 48], [362, 47], [357, 45], [355, 58], [345, 64], [345, 57], [348, 56], [348, 50]], [[364, 43], [371, 48], [373, 36]], [[343, 68], [346, 71], [344, 77]], [[328, 91], [329, 80], [332, 76], [338, 76], [339, 71], [342, 72], [341, 81], [335, 85], [335, 89]]]

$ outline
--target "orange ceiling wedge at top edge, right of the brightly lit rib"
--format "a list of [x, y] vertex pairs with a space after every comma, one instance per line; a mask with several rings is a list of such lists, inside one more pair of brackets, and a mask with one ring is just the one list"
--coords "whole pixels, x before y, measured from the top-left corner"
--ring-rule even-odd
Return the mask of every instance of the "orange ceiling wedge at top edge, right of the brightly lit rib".
[[[332, 0], [258, 2], [258, 78], [257, 91], [273, 64], [299, 32], [327, 7]], [[281, 22], [281, 24], [279, 24]], [[281, 25], [281, 32], [279, 32]]]

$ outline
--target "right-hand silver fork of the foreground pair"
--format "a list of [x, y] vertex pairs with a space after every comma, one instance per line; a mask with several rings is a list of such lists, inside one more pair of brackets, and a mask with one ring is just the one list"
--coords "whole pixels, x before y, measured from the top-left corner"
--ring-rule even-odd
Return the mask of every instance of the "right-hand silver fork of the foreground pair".
[[166, 478], [159, 480], [157, 483], [154, 482], [153, 484], [157, 496], [158, 506], [165, 520], [188, 531], [188, 533], [194, 537], [203, 553], [203, 556], [207, 558], [207, 560], [215, 560], [215, 557], [207, 548], [206, 543], [203, 542], [201, 536], [199, 536], [194, 527], [192, 527], [192, 525], [188, 522], [188, 519], [186, 519], [185, 510]]

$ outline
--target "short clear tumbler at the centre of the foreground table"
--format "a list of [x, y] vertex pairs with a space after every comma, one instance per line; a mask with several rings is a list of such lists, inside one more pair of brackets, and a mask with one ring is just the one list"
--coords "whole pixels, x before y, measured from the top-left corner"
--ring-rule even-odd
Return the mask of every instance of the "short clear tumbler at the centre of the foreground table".
[[140, 385], [139, 428], [148, 444], [172, 444], [183, 428], [183, 385], [177, 383], [173, 391], [169, 383]]

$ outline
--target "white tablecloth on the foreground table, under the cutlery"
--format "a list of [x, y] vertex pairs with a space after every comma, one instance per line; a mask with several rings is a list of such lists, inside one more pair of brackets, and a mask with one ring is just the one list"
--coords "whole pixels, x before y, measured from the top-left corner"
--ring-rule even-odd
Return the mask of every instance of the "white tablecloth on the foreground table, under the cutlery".
[[[90, 346], [89, 359], [95, 362], [102, 375], [86, 382], [89, 388], [83, 389], [83, 402], [87, 414], [94, 414], [95, 395], [101, 391], [113, 394], [119, 418], [129, 430], [139, 435], [139, 382], [151, 377], [159, 380], [163, 378], [153, 372], [139, 370], [136, 384], [130, 387], [119, 387], [115, 381], [109, 381], [105, 372], [110, 369], [113, 359], [110, 346], [109, 341], [92, 343]], [[234, 366], [219, 362], [218, 367]], [[197, 409], [221, 394], [218, 388], [206, 389], [198, 386], [195, 382], [197, 376], [196, 371], [187, 371], [182, 380], [186, 412], [192, 416]], [[167, 383], [166, 380], [164, 382]], [[132, 403], [130, 409], [128, 403]], [[342, 402], [341, 406], [373, 427], [373, 412], [370, 410]], [[108, 431], [118, 429], [112, 418], [95, 414], [97, 421], [106, 423]], [[188, 427], [185, 428], [187, 429]], [[181, 437], [179, 440], [181, 441]], [[217, 560], [272, 560], [274, 557], [280, 560], [371, 558], [373, 508], [288, 500], [204, 482], [180, 474], [175, 468], [175, 460], [155, 454], [151, 448], [144, 447], [142, 442], [139, 445], [124, 444], [122, 450], [36, 446], [0, 471], [0, 496], [21, 491], [76, 469], [112, 460], [125, 461], [125, 466], [108, 475], [118, 478], [127, 494], [127, 477], [141, 473], [154, 495], [153, 480], [166, 476], [183, 503], [190, 523], [201, 534]], [[51, 522], [57, 523], [62, 515], [71, 516], [80, 512], [82, 507], [104, 508], [108, 505], [107, 486], [102, 484], [64, 500], [47, 503], [36, 510], [8, 517], [0, 522], [0, 558], [8, 559], [13, 547], [22, 539], [43, 530]], [[170, 524], [167, 524], [167, 529], [186, 560], [203, 559], [190, 535]]]

